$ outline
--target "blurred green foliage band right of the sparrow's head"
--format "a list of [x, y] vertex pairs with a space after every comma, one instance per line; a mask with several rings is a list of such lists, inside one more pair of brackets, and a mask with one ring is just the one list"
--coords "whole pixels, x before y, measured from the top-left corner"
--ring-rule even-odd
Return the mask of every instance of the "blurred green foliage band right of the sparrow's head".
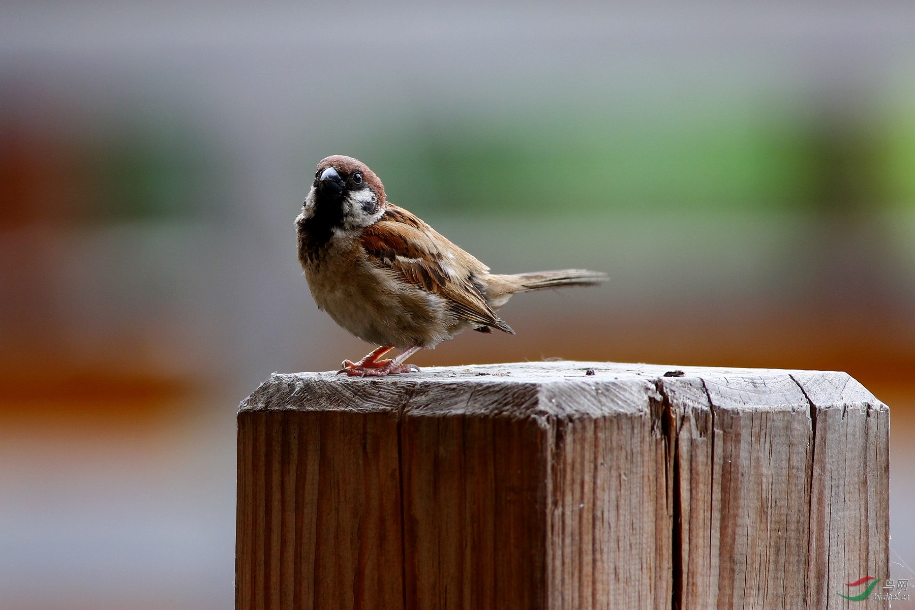
[[426, 117], [363, 144], [389, 198], [440, 214], [846, 209], [915, 202], [915, 123], [734, 107]]

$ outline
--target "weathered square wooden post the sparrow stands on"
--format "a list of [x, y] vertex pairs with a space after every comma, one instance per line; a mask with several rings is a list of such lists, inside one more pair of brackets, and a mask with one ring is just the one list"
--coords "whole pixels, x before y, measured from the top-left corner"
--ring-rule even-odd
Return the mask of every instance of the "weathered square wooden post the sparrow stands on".
[[887, 406], [678, 369], [274, 374], [238, 415], [236, 608], [886, 607], [840, 594], [888, 577]]

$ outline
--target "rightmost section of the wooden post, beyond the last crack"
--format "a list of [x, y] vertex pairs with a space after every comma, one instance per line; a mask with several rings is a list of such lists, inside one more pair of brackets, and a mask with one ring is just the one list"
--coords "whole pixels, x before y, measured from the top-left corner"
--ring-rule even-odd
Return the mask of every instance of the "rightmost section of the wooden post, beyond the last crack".
[[889, 410], [846, 373], [792, 375], [816, 422], [811, 487], [810, 608], [883, 608], [850, 602], [844, 583], [889, 575]]

